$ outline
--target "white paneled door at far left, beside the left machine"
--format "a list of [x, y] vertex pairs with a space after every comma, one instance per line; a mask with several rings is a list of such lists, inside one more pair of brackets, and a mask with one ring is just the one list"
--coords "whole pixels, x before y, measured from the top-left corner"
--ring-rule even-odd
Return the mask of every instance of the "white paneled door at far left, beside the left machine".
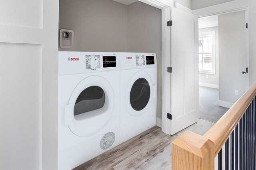
[[0, 169], [58, 168], [58, 0], [0, 0]]

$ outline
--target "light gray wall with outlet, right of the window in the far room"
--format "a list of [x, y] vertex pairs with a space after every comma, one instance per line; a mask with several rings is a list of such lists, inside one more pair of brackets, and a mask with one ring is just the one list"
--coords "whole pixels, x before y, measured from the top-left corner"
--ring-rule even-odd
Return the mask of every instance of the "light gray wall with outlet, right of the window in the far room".
[[[235, 103], [247, 90], [245, 11], [222, 14], [219, 21], [219, 100]], [[237, 21], [240, 21], [237, 23]], [[239, 90], [239, 95], [235, 95]]]

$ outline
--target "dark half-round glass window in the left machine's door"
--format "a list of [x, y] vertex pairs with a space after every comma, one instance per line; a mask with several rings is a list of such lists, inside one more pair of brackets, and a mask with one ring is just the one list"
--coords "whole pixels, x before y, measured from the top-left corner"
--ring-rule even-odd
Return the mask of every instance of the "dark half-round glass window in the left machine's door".
[[79, 94], [74, 107], [74, 116], [100, 109], [104, 106], [104, 103], [104, 90], [99, 86], [90, 86]]

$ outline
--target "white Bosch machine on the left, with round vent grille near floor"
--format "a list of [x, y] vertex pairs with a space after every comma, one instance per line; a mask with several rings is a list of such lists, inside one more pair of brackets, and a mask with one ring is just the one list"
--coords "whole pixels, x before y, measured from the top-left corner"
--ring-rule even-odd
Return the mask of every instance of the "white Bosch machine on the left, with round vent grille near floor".
[[116, 53], [59, 52], [59, 169], [72, 169], [120, 143]]

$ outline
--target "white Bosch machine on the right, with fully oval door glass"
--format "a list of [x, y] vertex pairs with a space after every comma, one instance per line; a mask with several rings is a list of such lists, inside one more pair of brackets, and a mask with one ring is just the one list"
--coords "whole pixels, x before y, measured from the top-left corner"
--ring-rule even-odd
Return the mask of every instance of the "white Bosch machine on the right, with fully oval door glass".
[[156, 125], [155, 53], [119, 53], [120, 143]]

